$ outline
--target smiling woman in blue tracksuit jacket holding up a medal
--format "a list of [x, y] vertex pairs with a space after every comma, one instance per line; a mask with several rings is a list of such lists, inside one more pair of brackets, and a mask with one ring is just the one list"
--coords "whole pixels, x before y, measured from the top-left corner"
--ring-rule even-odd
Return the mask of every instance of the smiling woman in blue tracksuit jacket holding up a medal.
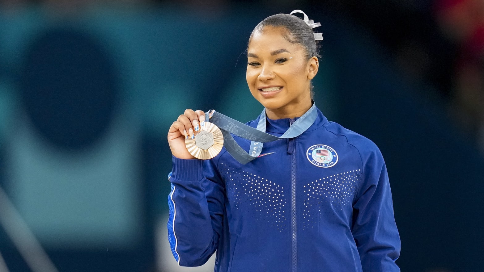
[[[170, 127], [168, 239], [181, 266], [202, 265], [216, 250], [216, 272], [400, 271], [383, 157], [370, 140], [315, 108], [317, 35], [305, 21], [276, 14], [260, 22], [246, 72], [265, 107], [247, 124], [281, 136], [314, 113], [302, 134], [265, 143], [269, 155], [243, 165], [225, 148], [210, 160], [190, 155], [185, 137], [205, 120], [202, 111], [187, 109]], [[235, 138], [249, 149], [249, 141]]]

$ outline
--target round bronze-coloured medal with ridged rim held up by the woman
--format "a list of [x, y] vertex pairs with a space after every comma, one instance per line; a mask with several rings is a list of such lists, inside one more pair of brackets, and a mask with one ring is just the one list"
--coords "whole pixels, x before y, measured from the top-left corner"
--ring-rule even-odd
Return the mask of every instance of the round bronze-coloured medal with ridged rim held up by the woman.
[[217, 156], [224, 146], [222, 131], [210, 122], [204, 122], [202, 130], [195, 132], [195, 137], [185, 139], [186, 149], [193, 157], [210, 159]]

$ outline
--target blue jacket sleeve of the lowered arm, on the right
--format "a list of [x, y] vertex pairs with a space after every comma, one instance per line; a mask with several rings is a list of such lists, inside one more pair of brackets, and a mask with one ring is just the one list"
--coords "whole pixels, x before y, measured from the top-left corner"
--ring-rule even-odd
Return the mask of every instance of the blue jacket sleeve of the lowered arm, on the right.
[[387, 169], [378, 147], [362, 156], [362, 184], [353, 204], [352, 233], [363, 272], [399, 272], [400, 237]]

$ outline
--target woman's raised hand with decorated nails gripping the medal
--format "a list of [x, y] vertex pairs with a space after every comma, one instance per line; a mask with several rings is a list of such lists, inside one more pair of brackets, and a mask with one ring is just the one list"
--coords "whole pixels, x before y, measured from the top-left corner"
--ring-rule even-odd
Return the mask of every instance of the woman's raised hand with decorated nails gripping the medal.
[[171, 124], [168, 130], [168, 144], [173, 156], [183, 159], [195, 158], [186, 149], [185, 138], [187, 135], [192, 136], [195, 127], [199, 126], [199, 122], [203, 121], [205, 121], [205, 113], [203, 111], [186, 109], [185, 113], [178, 116], [178, 119]]

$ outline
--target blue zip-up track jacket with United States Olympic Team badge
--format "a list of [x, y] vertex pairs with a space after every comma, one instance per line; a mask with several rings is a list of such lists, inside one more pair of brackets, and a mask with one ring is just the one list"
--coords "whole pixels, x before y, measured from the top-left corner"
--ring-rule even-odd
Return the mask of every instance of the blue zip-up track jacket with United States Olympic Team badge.
[[[280, 136], [291, 121], [268, 119], [266, 130]], [[262, 153], [272, 154], [245, 165], [225, 148], [205, 161], [173, 157], [168, 240], [179, 265], [202, 265], [216, 251], [215, 272], [400, 271], [390, 184], [373, 142], [318, 110], [300, 136]]]

